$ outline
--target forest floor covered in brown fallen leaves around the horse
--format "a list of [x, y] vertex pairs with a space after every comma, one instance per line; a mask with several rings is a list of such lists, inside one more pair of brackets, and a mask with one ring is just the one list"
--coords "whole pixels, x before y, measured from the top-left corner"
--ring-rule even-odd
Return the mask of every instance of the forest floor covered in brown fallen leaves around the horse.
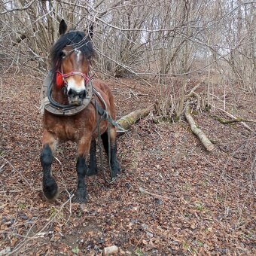
[[[106, 82], [118, 117], [154, 103], [156, 89], [139, 80]], [[184, 120], [156, 121], [151, 113], [117, 139], [120, 178], [107, 184], [102, 173], [87, 177], [82, 206], [70, 200], [77, 147], [63, 143], [53, 163], [60, 195], [49, 203], [41, 193], [40, 91], [37, 78], [2, 76], [0, 255], [100, 255], [111, 245], [139, 256], [256, 254], [256, 123], [248, 123], [250, 132], [218, 122], [215, 116], [228, 117], [217, 109], [195, 112], [215, 145], [208, 153]], [[227, 88], [226, 105], [256, 120], [250, 93]]]

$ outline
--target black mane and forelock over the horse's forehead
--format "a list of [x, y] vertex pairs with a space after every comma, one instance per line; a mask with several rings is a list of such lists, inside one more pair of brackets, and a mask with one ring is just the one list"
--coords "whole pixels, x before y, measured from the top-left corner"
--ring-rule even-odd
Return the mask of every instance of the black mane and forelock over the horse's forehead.
[[72, 45], [73, 49], [77, 48], [81, 50], [81, 52], [87, 59], [91, 59], [93, 56], [95, 56], [93, 44], [90, 41], [90, 37], [86, 37], [85, 33], [82, 31], [71, 30], [69, 32], [66, 32], [66, 34], [62, 35], [59, 40], [56, 41], [56, 43], [53, 45], [50, 54], [53, 71], [59, 69], [62, 58], [62, 50], [68, 45]]

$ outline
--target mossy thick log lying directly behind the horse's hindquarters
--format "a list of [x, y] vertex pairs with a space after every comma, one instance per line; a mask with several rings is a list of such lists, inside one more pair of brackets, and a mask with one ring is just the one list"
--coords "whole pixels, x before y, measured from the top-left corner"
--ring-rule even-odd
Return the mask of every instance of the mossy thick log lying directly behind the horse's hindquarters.
[[[146, 117], [153, 109], [154, 105], [151, 105], [148, 108], [137, 109], [130, 114], [121, 117], [119, 120], [117, 120], [117, 123], [123, 128], [123, 130], [129, 130], [130, 126], [137, 123], [143, 117]], [[117, 130], [117, 136], [121, 135], [123, 135], [123, 132]]]

